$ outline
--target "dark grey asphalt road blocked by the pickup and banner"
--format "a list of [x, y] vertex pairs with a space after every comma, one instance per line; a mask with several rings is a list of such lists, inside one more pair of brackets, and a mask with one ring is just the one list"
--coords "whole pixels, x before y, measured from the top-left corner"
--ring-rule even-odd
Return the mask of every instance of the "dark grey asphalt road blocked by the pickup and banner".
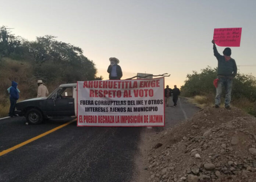
[[[166, 127], [199, 109], [181, 98], [166, 107]], [[0, 120], [0, 152], [63, 125], [73, 118], [25, 125], [25, 118]], [[142, 130], [164, 127], [77, 127], [73, 122], [0, 156], [0, 182], [134, 182]]]

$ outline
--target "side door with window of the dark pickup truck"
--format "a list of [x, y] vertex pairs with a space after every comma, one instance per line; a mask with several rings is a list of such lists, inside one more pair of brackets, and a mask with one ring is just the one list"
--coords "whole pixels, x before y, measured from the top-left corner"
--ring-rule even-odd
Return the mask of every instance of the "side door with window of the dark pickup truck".
[[73, 87], [61, 87], [47, 100], [48, 116], [74, 116]]

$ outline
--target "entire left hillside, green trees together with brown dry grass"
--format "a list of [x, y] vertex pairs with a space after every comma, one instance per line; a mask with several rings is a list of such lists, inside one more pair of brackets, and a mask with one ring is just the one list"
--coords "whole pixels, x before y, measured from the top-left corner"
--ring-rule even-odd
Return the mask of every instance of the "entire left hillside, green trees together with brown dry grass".
[[103, 79], [96, 77], [93, 61], [74, 45], [57, 41], [54, 36], [27, 41], [0, 27], [0, 101], [8, 102], [6, 89], [18, 82], [21, 99], [36, 97], [37, 80], [42, 79], [49, 92], [63, 83]]

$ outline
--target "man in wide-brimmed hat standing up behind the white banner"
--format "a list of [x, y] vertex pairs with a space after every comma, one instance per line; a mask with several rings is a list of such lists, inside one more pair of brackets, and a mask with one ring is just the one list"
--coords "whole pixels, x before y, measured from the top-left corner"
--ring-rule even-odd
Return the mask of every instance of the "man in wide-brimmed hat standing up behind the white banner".
[[109, 79], [121, 79], [122, 69], [118, 65], [119, 60], [115, 57], [110, 57], [109, 61], [110, 61], [110, 65], [107, 68], [107, 73], [109, 73]]

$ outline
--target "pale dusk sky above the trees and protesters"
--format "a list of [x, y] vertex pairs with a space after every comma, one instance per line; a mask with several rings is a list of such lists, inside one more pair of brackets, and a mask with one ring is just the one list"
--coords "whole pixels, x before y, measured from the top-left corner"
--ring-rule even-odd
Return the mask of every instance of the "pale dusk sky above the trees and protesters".
[[[81, 47], [97, 76], [109, 79], [109, 57], [123, 77], [170, 74], [165, 85], [184, 85], [187, 74], [217, 67], [214, 28], [242, 27], [231, 47], [238, 72], [256, 76], [255, 0], [0, 0], [0, 26], [29, 41], [53, 35]], [[218, 47], [222, 54], [225, 47]]]

